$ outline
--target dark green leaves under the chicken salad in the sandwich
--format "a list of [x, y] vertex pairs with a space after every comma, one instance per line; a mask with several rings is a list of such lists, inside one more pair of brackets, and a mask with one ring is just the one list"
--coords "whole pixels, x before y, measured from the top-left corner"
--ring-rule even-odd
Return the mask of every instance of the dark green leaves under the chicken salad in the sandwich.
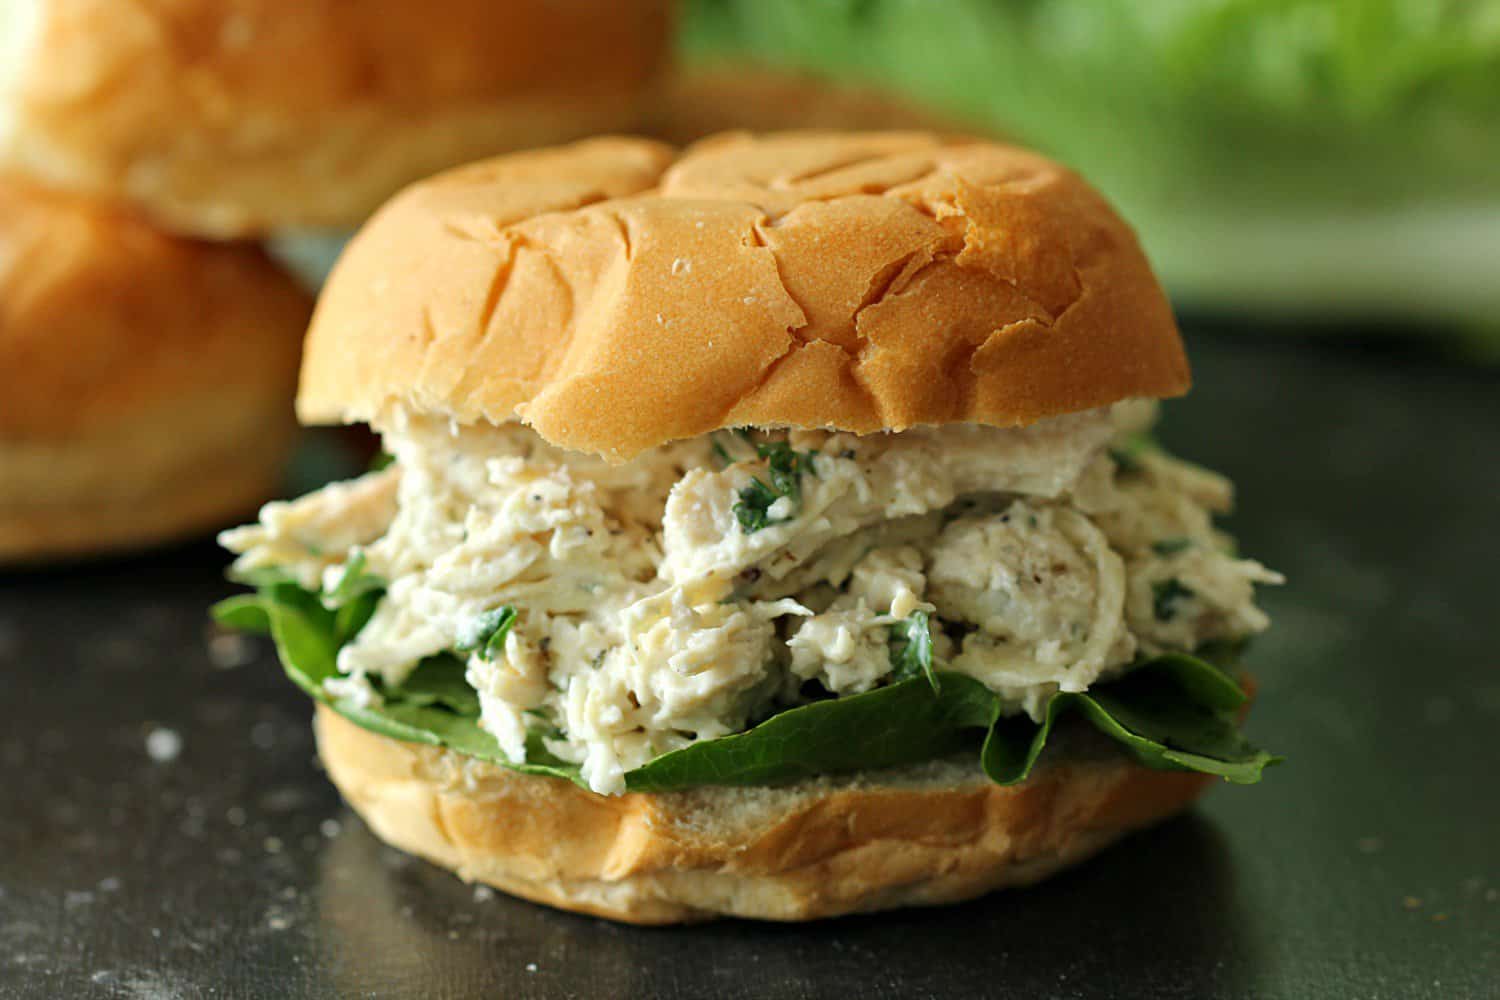
[[[362, 595], [369, 598], [372, 592]], [[447, 747], [524, 774], [582, 784], [579, 771], [548, 751], [555, 735], [538, 720], [526, 742], [528, 762], [512, 763], [478, 724], [477, 693], [464, 661], [442, 654], [423, 660], [399, 685], [372, 681], [378, 703], [334, 697], [339, 648], [352, 639], [342, 609], [288, 582], [254, 597], [214, 606], [225, 627], [268, 627], [286, 676], [309, 696], [375, 733]], [[915, 616], [914, 616], [915, 619]], [[896, 643], [904, 679], [873, 691], [826, 699], [771, 715], [744, 733], [690, 744], [628, 772], [638, 792], [708, 784], [780, 784], [822, 774], [891, 768], [978, 751], [984, 772], [999, 784], [1024, 781], [1060, 720], [1077, 715], [1150, 768], [1198, 771], [1236, 783], [1258, 781], [1276, 757], [1252, 747], [1236, 714], [1245, 694], [1218, 666], [1200, 657], [1166, 655], [1086, 693], [1062, 693], [1038, 724], [1002, 715], [1000, 700], [962, 673], [932, 666], [926, 621], [908, 621]]]

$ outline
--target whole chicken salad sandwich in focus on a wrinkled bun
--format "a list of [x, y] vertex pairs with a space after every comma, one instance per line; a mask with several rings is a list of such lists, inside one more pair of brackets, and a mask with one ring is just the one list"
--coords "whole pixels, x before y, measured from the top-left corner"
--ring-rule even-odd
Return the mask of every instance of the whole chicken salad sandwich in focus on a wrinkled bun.
[[924, 132], [606, 138], [408, 187], [298, 414], [388, 462], [220, 535], [382, 840], [606, 918], [1024, 885], [1275, 762], [1268, 625], [1130, 228]]

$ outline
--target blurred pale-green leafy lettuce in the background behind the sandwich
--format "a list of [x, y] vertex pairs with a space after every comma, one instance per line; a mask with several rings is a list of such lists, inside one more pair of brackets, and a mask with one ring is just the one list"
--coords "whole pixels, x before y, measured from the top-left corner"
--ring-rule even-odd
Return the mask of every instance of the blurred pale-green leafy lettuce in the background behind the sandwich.
[[1462, 327], [1500, 358], [1496, 0], [686, 0], [682, 46], [1056, 156], [1179, 307]]

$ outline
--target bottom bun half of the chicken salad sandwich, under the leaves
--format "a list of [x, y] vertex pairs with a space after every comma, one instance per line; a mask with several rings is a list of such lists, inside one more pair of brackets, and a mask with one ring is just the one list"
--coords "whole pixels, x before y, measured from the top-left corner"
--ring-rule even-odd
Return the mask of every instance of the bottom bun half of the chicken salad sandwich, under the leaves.
[[632, 924], [808, 921], [1029, 885], [1191, 804], [1200, 774], [1113, 754], [992, 784], [969, 762], [782, 789], [600, 796], [363, 730], [318, 751], [381, 840], [513, 895]]

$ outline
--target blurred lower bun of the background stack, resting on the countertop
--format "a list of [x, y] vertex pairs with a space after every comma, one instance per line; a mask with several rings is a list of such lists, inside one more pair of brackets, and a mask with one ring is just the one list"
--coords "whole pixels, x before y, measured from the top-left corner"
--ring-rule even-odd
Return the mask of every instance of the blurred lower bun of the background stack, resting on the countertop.
[[310, 310], [260, 250], [0, 180], [0, 561], [254, 510], [296, 433]]

